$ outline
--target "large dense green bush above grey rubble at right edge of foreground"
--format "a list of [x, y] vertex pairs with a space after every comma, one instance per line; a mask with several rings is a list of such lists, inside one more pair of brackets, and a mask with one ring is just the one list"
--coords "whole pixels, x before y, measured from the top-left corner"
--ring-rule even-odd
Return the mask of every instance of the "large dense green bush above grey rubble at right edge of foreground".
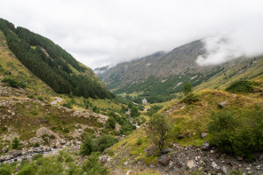
[[262, 128], [263, 109], [259, 108], [212, 113], [208, 124], [211, 144], [247, 160], [253, 158], [253, 153], [263, 151]]

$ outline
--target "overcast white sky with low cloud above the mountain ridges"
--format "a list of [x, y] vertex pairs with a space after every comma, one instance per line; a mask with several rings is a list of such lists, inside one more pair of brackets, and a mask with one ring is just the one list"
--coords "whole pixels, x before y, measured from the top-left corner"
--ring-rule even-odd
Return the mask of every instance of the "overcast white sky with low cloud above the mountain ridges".
[[262, 7], [262, 0], [5, 0], [0, 18], [52, 39], [91, 68], [201, 38], [209, 54], [197, 62], [209, 65], [263, 53]]

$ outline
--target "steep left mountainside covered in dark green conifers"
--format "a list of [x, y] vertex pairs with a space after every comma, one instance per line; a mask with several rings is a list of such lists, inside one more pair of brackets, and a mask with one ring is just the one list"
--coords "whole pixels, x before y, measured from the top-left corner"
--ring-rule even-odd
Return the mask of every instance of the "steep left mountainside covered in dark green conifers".
[[15, 28], [0, 19], [9, 49], [20, 62], [58, 93], [72, 92], [85, 98], [111, 99], [111, 94], [90, 68], [78, 63], [68, 52], [44, 36], [26, 28]]

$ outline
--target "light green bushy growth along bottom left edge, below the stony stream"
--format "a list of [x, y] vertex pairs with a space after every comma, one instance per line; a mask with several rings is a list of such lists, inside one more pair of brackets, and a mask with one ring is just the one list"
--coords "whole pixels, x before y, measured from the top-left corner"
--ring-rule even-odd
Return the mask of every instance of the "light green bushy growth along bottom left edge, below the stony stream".
[[92, 175], [108, 174], [108, 169], [98, 163], [99, 152], [94, 152], [84, 161], [83, 166], [77, 165], [78, 159], [70, 155], [68, 151], [60, 151], [56, 156], [42, 157], [40, 154], [34, 156], [33, 161], [22, 161], [21, 163], [0, 164], [1, 175]]

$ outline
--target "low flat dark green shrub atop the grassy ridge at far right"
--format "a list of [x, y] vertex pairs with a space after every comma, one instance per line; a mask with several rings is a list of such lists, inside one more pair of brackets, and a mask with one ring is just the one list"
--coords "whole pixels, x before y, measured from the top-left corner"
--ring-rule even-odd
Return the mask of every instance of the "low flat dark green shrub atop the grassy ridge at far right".
[[230, 84], [227, 87], [226, 91], [230, 91], [232, 93], [248, 93], [254, 90], [255, 85], [257, 85], [256, 82], [240, 80], [233, 84]]

